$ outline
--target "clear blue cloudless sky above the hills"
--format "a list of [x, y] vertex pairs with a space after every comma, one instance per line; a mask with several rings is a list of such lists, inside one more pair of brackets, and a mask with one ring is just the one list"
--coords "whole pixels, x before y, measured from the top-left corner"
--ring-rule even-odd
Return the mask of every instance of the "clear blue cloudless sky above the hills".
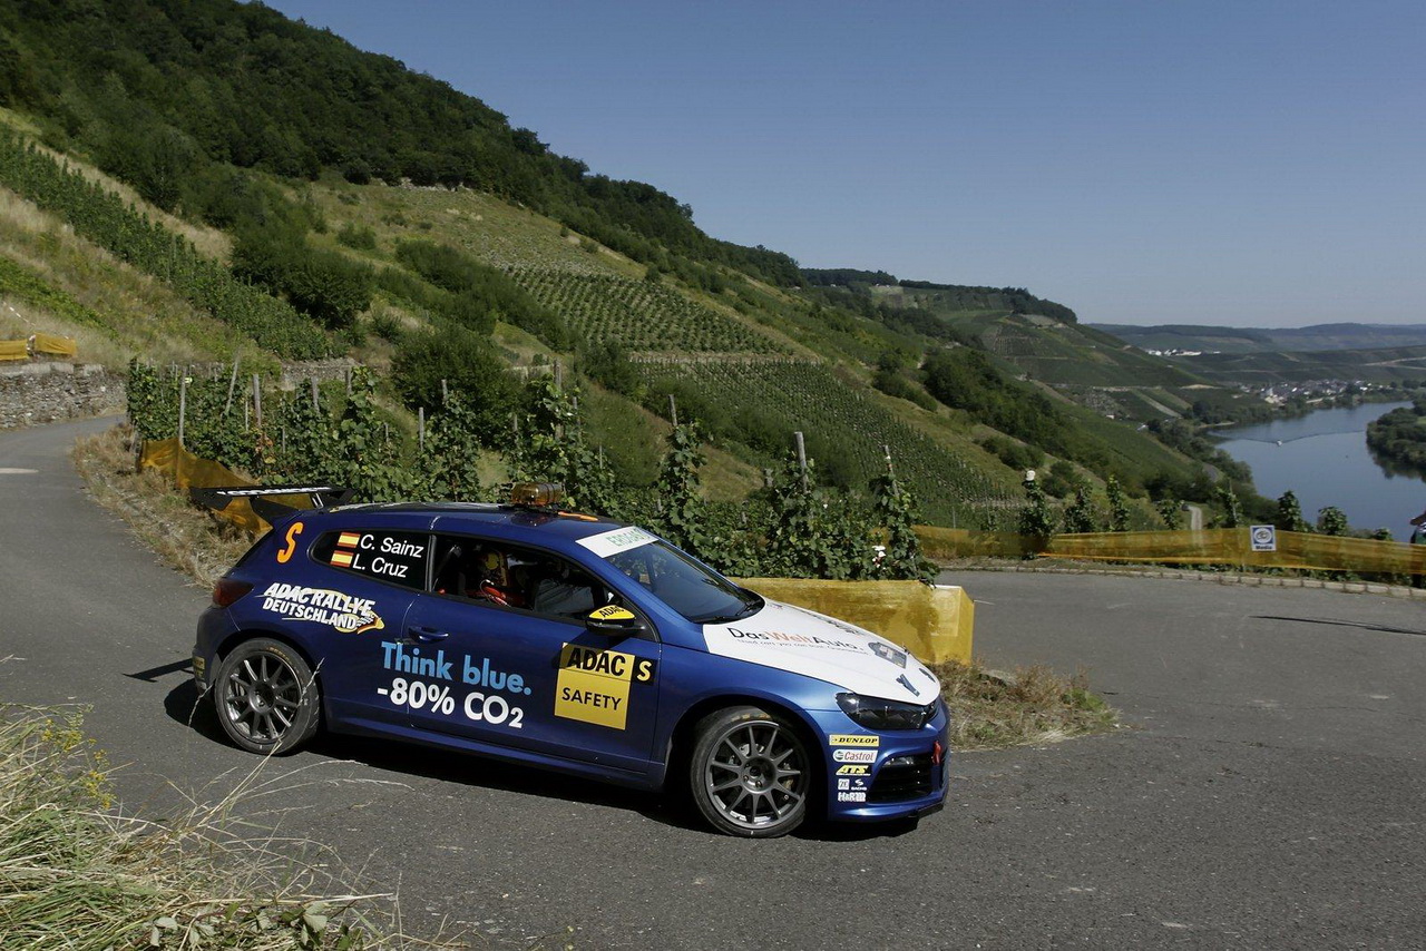
[[1422, 0], [268, 6], [803, 267], [1426, 324]]

